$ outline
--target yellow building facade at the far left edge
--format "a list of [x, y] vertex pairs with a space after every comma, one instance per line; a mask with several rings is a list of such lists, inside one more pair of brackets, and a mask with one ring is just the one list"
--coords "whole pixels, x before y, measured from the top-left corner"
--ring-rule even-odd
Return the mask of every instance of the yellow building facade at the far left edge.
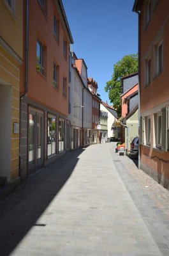
[[0, 179], [18, 184], [23, 1], [0, 0]]

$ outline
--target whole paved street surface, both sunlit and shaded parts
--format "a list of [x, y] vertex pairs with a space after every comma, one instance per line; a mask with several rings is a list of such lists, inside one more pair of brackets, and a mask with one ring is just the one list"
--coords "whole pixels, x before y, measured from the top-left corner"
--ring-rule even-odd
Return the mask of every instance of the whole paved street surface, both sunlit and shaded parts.
[[75, 150], [0, 201], [0, 255], [169, 255], [169, 191], [115, 154]]

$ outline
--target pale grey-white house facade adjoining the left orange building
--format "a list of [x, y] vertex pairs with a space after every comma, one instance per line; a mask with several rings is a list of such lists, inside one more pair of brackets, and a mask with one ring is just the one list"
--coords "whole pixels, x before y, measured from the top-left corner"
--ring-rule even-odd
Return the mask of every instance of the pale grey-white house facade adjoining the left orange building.
[[71, 150], [91, 142], [92, 95], [87, 88], [87, 67], [84, 60], [71, 56], [70, 83]]

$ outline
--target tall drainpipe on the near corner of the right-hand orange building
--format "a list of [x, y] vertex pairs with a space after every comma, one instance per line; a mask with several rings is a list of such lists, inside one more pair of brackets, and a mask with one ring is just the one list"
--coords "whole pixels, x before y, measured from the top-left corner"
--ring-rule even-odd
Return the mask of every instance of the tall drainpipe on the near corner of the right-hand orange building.
[[[133, 8], [133, 12], [138, 14], [138, 134], [140, 138], [140, 12], [136, 11]], [[139, 140], [139, 147], [138, 147], [138, 169], [140, 169], [140, 140]]]

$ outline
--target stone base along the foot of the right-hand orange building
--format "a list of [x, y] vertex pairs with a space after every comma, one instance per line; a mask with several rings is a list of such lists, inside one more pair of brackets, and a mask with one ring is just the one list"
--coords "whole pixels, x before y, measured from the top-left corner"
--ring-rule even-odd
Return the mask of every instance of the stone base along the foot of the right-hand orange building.
[[143, 172], [147, 173], [154, 180], [156, 180], [158, 184], [161, 184], [164, 188], [169, 190], [169, 179], [167, 179], [163, 174], [161, 175], [161, 173], [156, 172], [156, 170], [150, 168], [142, 161], [140, 163], [140, 168], [143, 170]]

